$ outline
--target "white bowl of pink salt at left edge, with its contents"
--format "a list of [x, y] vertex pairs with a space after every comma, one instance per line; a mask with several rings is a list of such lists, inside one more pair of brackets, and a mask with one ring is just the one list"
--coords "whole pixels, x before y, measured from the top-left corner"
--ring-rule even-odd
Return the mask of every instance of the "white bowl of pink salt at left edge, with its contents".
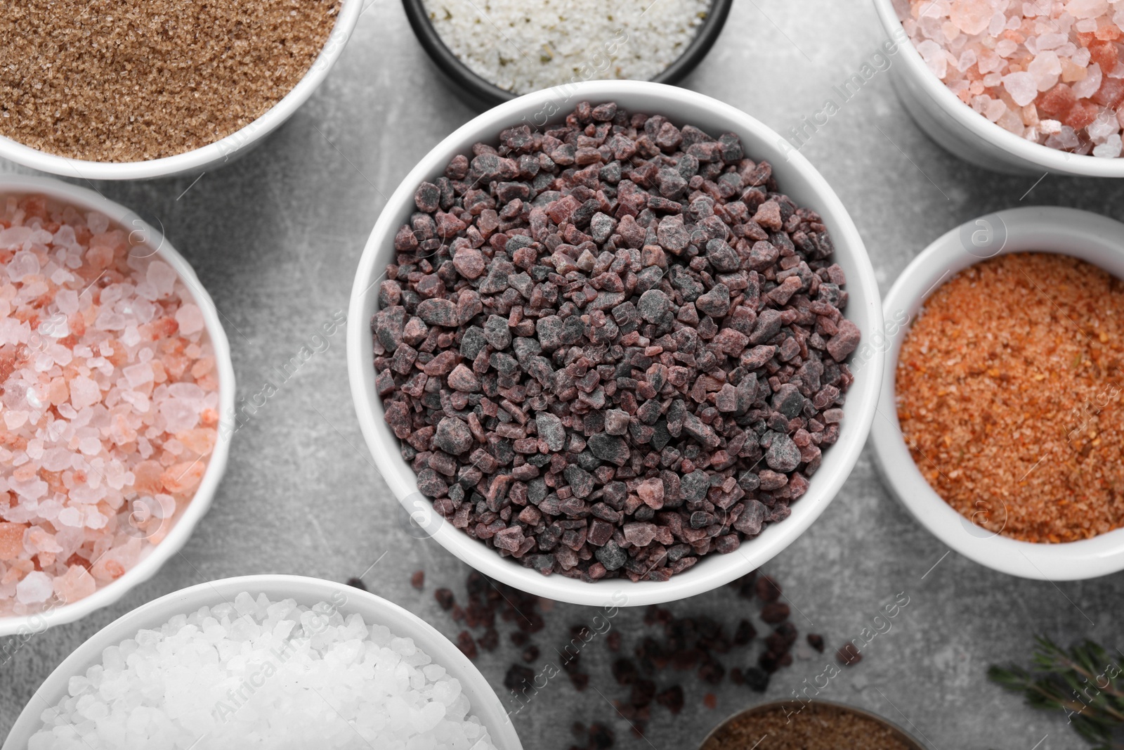
[[226, 468], [229, 345], [188, 262], [136, 214], [0, 179], [0, 635], [146, 580]]

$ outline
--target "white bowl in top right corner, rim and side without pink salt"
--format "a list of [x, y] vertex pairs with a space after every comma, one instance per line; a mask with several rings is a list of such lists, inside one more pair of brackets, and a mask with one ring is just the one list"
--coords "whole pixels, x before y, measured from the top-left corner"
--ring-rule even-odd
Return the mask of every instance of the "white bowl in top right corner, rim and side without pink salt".
[[890, 80], [901, 103], [928, 137], [964, 161], [997, 172], [1040, 175], [1124, 177], [1124, 159], [1081, 156], [1031, 143], [977, 114], [936, 78], [905, 34], [894, 0], [874, 0], [874, 9], [899, 53], [891, 57]]

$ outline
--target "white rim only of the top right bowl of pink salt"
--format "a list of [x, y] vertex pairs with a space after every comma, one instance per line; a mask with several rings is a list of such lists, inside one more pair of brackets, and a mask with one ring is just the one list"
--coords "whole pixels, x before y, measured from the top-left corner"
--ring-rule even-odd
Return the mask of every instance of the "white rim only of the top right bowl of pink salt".
[[988, 145], [1030, 162], [1046, 172], [1085, 177], [1124, 177], [1124, 156], [1100, 159], [1093, 155], [1071, 154], [1042, 144], [1031, 143], [976, 112], [928, 70], [928, 65], [922, 60], [912, 39], [908, 37], [899, 39], [895, 36], [895, 33], [901, 30], [903, 26], [894, 9], [894, 0], [873, 0], [873, 3], [874, 10], [882, 21], [883, 30], [891, 40], [897, 42], [898, 47], [903, 51], [907, 74], [919, 84], [921, 93], [940, 105], [950, 117], [975, 136], [984, 139]]

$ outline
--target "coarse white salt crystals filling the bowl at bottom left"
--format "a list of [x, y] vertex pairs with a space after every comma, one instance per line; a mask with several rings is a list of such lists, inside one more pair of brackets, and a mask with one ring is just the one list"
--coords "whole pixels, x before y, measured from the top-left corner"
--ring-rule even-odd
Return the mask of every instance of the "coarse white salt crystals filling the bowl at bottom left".
[[383, 625], [239, 594], [102, 652], [28, 750], [495, 750], [457, 679]]

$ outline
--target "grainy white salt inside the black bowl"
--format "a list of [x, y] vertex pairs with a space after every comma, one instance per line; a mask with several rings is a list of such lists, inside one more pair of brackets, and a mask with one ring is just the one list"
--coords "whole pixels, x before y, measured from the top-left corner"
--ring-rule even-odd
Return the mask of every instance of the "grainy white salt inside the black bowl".
[[506, 91], [647, 81], [695, 38], [709, 0], [425, 0], [454, 55]]

